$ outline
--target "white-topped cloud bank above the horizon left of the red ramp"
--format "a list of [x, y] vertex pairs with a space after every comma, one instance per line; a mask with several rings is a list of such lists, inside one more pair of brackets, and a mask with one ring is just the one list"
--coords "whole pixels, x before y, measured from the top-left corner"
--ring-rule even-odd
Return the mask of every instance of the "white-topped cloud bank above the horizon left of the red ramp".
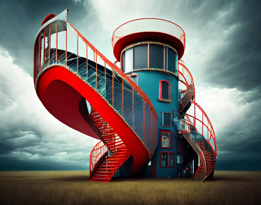
[[34, 91], [33, 78], [1, 47], [0, 59], [0, 169], [89, 169], [89, 153], [98, 140], [48, 113]]

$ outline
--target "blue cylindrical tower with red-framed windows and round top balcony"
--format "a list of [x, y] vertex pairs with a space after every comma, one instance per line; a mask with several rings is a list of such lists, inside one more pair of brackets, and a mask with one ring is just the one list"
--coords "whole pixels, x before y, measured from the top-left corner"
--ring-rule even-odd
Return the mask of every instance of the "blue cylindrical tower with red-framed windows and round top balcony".
[[166, 20], [137, 19], [114, 31], [112, 46], [121, 69], [149, 97], [158, 116], [157, 146], [143, 174], [179, 176], [187, 163], [197, 160], [197, 154], [179, 135], [178, 60], [184, 54], [184, 31]]

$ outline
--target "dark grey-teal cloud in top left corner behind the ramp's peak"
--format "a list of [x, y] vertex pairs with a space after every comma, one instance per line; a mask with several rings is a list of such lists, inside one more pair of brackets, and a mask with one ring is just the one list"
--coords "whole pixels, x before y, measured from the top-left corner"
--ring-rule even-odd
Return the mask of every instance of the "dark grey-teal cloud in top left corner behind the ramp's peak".
[[44, 18], [54, 13], [58, 15], [66, 8], [73, 12], [70, 21], [80, 24], [79, 19], [86, 15], [82, 1], [6, 1], [1, 0], [0, 32], [1, 45], [14, 62], [33, 76], [33, 44], [36, 33]]

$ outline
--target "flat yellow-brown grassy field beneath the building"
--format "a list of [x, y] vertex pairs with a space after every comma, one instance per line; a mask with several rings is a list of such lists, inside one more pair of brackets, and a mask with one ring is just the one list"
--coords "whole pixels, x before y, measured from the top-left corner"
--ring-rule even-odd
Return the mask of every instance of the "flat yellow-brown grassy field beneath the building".
[[113, 179], [87, 171], [0, 172], [0, 204], [261, 204], [261, 172], [215, 171], [214, 179]]

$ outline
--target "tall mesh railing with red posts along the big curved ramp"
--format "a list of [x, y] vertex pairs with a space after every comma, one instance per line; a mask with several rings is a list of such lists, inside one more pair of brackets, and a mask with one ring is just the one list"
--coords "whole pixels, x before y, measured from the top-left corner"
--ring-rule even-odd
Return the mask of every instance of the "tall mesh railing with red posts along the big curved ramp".
[[[44, 23], [36, 36], [36, 89], [39, 76], [52, 66], [70, 70], [95, 89], [133, 130], [149, 158], [152, 156], [157, 144], [158, 119], [151, 101], [120, 68], [67, 22], [67, 10]], [[99, 70], [101, 66], [102, 71]]]

